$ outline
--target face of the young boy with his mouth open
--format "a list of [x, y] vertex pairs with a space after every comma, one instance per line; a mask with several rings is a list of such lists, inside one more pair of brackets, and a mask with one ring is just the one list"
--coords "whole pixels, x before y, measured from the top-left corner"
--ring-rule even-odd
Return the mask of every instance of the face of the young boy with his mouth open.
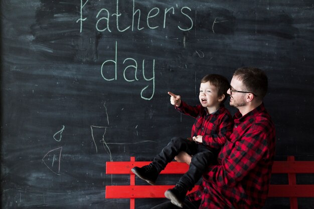
[[203, 107], [215, 107], [220, 103], [217, 88], [211, 85], [209, 81], [201, 83], [199, 98]]

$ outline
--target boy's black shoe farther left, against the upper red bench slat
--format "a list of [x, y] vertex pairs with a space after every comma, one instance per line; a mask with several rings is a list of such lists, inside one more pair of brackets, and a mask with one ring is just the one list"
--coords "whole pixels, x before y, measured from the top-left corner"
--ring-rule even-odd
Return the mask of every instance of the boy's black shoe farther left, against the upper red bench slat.
[[156, 167], [151, 163], [149, 165], [144, 165], [143, 167], [133, 167], [131, 171], [151, 185], [155, 185], [155, 181], [159, 175]]

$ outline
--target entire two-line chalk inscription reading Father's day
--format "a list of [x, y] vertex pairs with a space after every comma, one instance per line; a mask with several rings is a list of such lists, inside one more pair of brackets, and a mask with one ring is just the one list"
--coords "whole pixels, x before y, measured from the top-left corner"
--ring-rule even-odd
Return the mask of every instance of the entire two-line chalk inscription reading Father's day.
[[[86, 4], [89, 0], [81, 0], [80, 6], [80, 18], [76, 21], [80, 23], [80, 33], [82, 33], [84, 21], [88, 19], [88, 16], [84, 16], [83, 12], [85, 11]], [[96, 23], [95, 29], [98, 32], [103, 33], [111, 33], [112, 30], [116, 30], [118, 32], [127, 32], [127, 31], [141, 31], [143, 29], [146, 30], [154, 30], [159, 27], [168, 28], [167, 25], [167, 18], [171, 18], [172, 16], [175, 17], [175, 20], [182, 20], [182, 22], [178, 21], [177, 28], [181, 31], [189, 31], [193, 28], [193, 20], [191, 18], [191, 9], [189, 7], [182, 7], [179, 8], [178, 5], [176, 7], [170, 8], [158, 8], [154, 7], [151, 8], [147, 13], [144, 14], [143, 11], [135, 8], [135, 0], [133, 2], [133, 7], [130, 8], [132, 12], [132, 20], [129, 23], [125, 23], [123, 21], [123, 28], [121, 27], [121, 19], [122, 14], [119, 12], [119, 0], [116, 0], [116, 8], [113, 13], [110, 14], [109, 10], [106, 8], [102, 8], [96, 15]], [[88, 9], [86, 9], [88, 10]], [[142, 17], [145, 17], [146, 22], [141, 21]], [[180, 18], [180, 17], [181, 18]], [[162, 20], [163, 22], [158, 22]], [[115, 24], [109, 24], [113, 23]], [[141, 25], [140, 25], [141, 23]], [[172, 22], [172, 24], [174, 24]], [[118, 43], [115, 42], [115, 54], [113, 55], [113, 59], [108, 59], [104, 61], [101, 65], [101, 76], [106, 81], [116, 81], [119, 80], [118, 78], [118, 68], [117, 63], [120, 61], [118, 60]], [[120, 64], [120, 63], [119, 63]], [[146, 85], [141, 89], [140, 96], [142, 99], [150, 100], [152, 99], [155, 91], [155, 60], [147, 62], [144, 59], [141, 63], [137, 63], [136, 60], [133, 58], [126, 58], [123, 61], [123, 64], [126, 67], [123, 70], [123, 78], [126, 82], [134, 82], [138, 81], [140, 78], [146, 82], [150, 82], [150, 84]], [[147, 68], [147, 66], [152, 65], [152, 67]], [[141, 66], [141, 67], [138, 67]], [[140, 69], [141, 68], [141, 69]], [[152, 73], [147, 73], [147, 71], [152, 71]], [[147, 74], [149, 76], [147, 76]], [[151, 95], [150, 95], [151, 93]], [[150, 96], [147, 96], [150, 95]]]

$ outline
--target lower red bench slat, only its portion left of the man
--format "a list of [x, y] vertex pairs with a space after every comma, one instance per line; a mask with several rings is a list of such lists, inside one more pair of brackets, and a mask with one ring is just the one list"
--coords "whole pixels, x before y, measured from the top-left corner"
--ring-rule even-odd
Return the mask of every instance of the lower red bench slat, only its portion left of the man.
[[[165, 198], [165, 191], [175, 185], [106, 186], [106, 198]], [[195, 191], [195, 186], [189, 193]]]

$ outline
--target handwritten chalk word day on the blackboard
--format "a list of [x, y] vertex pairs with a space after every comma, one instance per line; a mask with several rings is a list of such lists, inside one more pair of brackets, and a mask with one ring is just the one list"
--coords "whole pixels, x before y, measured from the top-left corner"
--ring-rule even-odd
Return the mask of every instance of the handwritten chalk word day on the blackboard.
[[[114, 81], [117, 80], [117, 58], [118, 58], [118, 49], [117, 49], [117, 42], [115, 42], [115, 55], [114, 55], [114, 59], [113, 60], [106, 60], [102, 63], [101, 65], [101, 76], [103, 77], [103, 79], [105, 79], [106, 81]], [[109, 70], [108, 69], [108, 63], [113, 63], [114, 64], [114, 69]], [[136, 60], [134, 60], [133, 58], [126, 58], [123, 61], [123, 64], [126, 63], [131, 63], [132, 65], [128, 65], [124, 68], [123, 70], [123, 78], [125, 81], [127, 82], [133, 82], [133, 81], [138, 81], [137, 78], [137, 62]], [[107, 69], [107, 70], [106, 70]], [[108, 73], [108, 72], [113, 72], [113, 73]], [[134, 77], [132, 78], [127, 78], [127, 75], [132, 75]], [[150, 100], [153, 95], [154, 95], [154, 91], [155, 91], [155, 60], [153, 59], [152, 61], [152, 77], [151, 78], [147, 78], [145, 75], [145, 60], [142, 61], [142, 76], [143, 79], [145, 81], [152, 81], [152, 94], [149, 98], [144, 96], [144, 91], [149, 87], [149, 85], [145, 86], [141, 92], [140, 92], [140, 96], [142, 99], [145, 100]]]

